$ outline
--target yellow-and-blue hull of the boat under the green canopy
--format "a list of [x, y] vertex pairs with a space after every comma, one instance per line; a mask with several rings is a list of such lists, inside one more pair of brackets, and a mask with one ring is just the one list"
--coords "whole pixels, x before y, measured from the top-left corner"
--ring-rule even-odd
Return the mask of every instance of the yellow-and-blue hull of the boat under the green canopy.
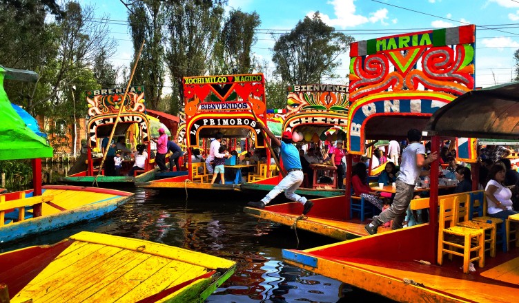
[[[33, 190], [0, 194], [0, 242], [54, 231], [103, 216], [133, 196], [126, 191], [47, 185], [41, 196]], [[40, 209], [35, 216], [35, 209]]]

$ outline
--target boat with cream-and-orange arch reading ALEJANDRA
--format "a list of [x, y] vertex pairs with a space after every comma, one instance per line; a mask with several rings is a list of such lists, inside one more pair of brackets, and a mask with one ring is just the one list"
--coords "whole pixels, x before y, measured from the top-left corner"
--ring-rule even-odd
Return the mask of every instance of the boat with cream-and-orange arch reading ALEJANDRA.
[[[87, 92], [86, 101], [88, 103], [88, 147], [83, 157], [70, 169], [68, 176], [61, 178], [61, 182], [71, 185], [90, 185], [90, 186], [132, 186], [134, 182], [146, 182], [157, 178], [157, 169], [154, 169], [154, 159], [150, 159], [150, 136], [152, 124], [158, 123], [159, 119], [146, 115], [146, 105], [144, 98], [144, 87], [130, 87], [126, 100], [123, 88], [112, 88], [106, 90], [93, 90]], [[133, 160], [123, 160], [121, 176], [106, 176], [106, 169], [101, 169], [99, 165], [102, 158], [95, 158], [92, 149], [101, 150], [101, 140], [108, 138], [112, 132], [112, 127], [119, 113], [119, 107], [123, 107], [114, 138], [125, 136], [133, 147], [136, 143], [147, 145], [148, 159], [144, 171], [137, 171], [134, 176], [124, 176], [133, 166]], [[158, 112], [159, 113], [159, 112]], [[163, 121], [167, 118], [164, 114], [159, 116]], [[170, 121], [168, 125], [175, 125], [177, 121]], [[174, 129], [176, 131], [177, 129]]]

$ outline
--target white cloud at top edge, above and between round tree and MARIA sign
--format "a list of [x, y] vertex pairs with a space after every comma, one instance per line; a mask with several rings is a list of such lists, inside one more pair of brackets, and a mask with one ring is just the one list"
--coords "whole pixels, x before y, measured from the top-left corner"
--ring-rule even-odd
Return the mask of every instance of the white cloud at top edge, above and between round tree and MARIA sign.
[[[326, 2], [333, 6], [335, 18], [330, 17], [327, 14], [320, 13], [322, 21], [331, 26], [337, 26], [340, 28], [354, 27], [364, 23], [377, 23], [380, 21], [382, 25], [388, 25], [386, 20], [389, 20], [387, 16], [388, 10], [382, 8], [375, 12], [370, 12], [369, 17], [362, 16], [361, 14], [355, 14], [355, 0], [331, 0]], [[309, 12], [306, 14], [308, 17], [312, 17], [315, 12]]]

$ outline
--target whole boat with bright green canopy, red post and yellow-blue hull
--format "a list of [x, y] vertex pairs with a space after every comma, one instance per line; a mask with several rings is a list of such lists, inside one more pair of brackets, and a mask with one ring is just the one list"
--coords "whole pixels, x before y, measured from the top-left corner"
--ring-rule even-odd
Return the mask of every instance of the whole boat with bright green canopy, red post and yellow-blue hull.
[[0, 194], [0, 242], [104, 215], [133, 196], [126, 191], [92, 187], [41, 186], [41, 158], [52, 158], [52, 147], [23, 123], [12, 108], [4, 79], [37, 81], [35, 72], [0, 66], [0, 160], [32, 160], [33, 189]]

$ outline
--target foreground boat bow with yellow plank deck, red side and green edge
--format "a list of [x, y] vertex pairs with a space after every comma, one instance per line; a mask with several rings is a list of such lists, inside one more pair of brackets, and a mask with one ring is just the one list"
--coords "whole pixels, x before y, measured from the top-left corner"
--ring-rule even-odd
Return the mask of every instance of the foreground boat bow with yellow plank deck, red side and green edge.
[[0, 254], [10, 302], [204, 302], [236, 262], [145, 240], [82, 231]]

